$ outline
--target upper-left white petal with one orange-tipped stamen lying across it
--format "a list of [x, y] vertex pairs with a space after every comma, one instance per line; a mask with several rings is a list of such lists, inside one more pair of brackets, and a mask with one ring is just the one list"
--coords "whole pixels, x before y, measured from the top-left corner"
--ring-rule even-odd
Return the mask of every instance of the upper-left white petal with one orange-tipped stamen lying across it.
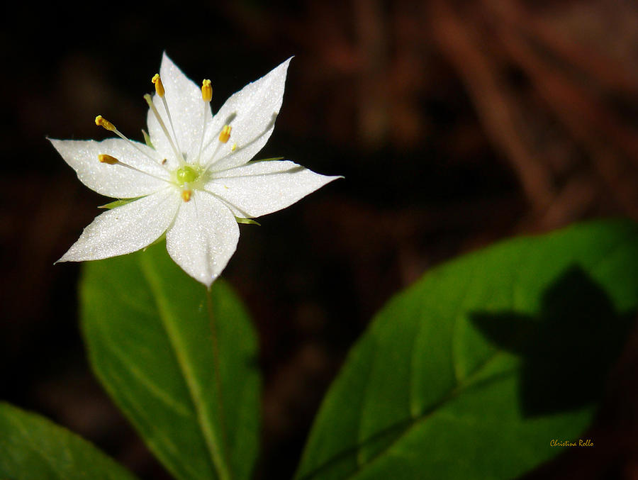
[[[118, 199], [133, 199], [164, 188], [166, 182], [160, 178], [170, 178], [169, 173], [159, 165], [161, 159], [157, 157], [157, 153], [141, 143], [135, 143], [135, 145], [156, 158], [155, 163], [142, 155], [133, 145], [119, 138], [109, 138], [101, 142], [53, 139], [50, 141], [65, 162], [77, 172], [80, 182], [102, 195]], [[98, 160], [100, 154], [116, 157], [148, 174], [136, 172], [118, 164], [101, 163]]]

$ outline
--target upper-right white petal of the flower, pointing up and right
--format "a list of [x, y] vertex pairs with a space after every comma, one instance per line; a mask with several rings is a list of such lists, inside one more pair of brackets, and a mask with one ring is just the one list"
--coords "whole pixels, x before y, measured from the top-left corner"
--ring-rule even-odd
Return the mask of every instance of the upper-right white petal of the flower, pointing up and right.
[[[221, 170], [243, 165], [257, 155], [274, 128], [276, 116], [284, 99], [286, 72], [291, 58], [259, 80], [247, 84], [233, 94], [219, 109], [206, 129], [202, 158], [213, 169]], [[230, 140], [219, 143], [224, 125], [230, 125]], [[234, 152], [233, 145], [237, 145]]]

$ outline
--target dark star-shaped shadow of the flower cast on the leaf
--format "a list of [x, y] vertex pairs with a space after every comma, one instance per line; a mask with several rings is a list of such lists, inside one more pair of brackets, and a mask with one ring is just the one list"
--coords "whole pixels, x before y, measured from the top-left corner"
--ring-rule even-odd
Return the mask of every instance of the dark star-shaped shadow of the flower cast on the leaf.
[[585, 407], [600, 398], [635, 310], [619, 313], [608, 294], [573, 266], [542, 296], [537, 316], [472, 313], [471, 322], [501, 350], [522, 357], [522, 412], [532, 417]]

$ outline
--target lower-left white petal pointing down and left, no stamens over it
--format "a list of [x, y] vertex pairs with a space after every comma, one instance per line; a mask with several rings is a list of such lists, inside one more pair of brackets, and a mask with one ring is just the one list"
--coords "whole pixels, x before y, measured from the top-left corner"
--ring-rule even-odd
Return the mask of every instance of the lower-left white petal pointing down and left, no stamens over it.
[[155, 242], [177, 214], [173, 188], [158, 191], [97, 216], [58, 262], [82, 262], [135, 252]]

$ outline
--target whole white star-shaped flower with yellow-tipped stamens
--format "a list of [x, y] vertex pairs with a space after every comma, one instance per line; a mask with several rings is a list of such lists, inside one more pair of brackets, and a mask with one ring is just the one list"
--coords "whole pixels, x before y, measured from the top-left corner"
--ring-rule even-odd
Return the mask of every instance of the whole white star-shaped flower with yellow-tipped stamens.
[[198, 87], [164, 54], [145, 98], [150, 145], [125, 138], [51, 140], [82, 183], [99, 194], [134, 199], [97, 216], [60, 262], [140, 250], [164, 233], [169, 255], [206, 286], [235, 252], [238, 221], [281, 210], [340, 177], [288, 160], [250, 162], [274, 128], [290, 59], [211, 114], [211, 82]]

